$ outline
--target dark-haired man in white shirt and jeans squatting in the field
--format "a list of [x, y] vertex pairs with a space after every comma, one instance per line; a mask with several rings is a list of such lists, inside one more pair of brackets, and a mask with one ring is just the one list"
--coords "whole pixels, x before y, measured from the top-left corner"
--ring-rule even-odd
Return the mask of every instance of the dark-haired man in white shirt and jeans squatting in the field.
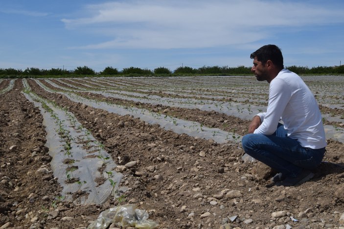
[[257, 80], [270, 83], [269, 101], [266, 112], [253, 117], [242, 146], [248, 155], [278, 171], [272, 178], [276, 185], [300, 185], [313, 178], [310, 170], [325, 154], [319, 106], [302, 79], [283, 67], [276, 45], [264, 45], [251, 59]]

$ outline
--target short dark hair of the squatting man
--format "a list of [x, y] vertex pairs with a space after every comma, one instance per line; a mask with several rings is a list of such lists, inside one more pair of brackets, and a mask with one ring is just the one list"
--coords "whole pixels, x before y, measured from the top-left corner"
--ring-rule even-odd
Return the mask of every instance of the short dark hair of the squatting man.
[[283, 56], [281, 50], [275, 44], [267, 44], [260, 47], [251, 54], [251, 59], [257, 58], [257, 61], [265, 64], [268, 60], [272, 61], [277, 67], [283, 68]]

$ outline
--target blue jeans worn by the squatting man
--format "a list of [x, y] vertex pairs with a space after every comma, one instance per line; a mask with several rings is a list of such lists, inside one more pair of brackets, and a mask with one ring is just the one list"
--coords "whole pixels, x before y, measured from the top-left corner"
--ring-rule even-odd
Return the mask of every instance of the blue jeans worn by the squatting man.
[[297, 177], [303, 168], [315, 169], [325, 154], [325, 148], [302, 147], [297, 140], [287, 137], [282, 124], [272, 135], [245, 135], [242, 146], [248, 155], [287, 177]]

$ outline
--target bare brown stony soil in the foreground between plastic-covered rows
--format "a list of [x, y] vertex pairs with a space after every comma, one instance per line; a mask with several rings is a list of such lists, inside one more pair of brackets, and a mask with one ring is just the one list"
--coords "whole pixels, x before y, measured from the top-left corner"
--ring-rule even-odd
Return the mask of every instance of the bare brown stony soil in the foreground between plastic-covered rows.
[[[0, 83], [1, 88], [6, 86], [4, 82]], [[125, 204], [147, 210], [149, 219], [159, 223], [161, 229], [272, 229], [281, 225], [301, 229], [343, 225], [342, 143], [327, 140], [324, 162], [313, 171], [312, 180], [298, 187], [277, 187], [270, 181], [274, 171], [259, 162], [242, 160], [244, 151], [240, 144], [217, 144], [166, 131], [129, 115], [119, 116], [74, 103], [63, 95], [46, 92], [33, 80], [28, 83], [38, 95], [67, 107], [105, 146], [117, 165], [129, 161], [138, 164], [122, 172], [120, 186], [128, 190], [120, 200], [111, 198], [101, 205], [64, 201], [60, 196], [62, 187], [51, 172], [42, 115], [26, 100], [22, 80], [17, 79], [12, 90], [1, 94], [0, 227], [85, 229], [102, 211]], [[216, 112], [85, 95], [235, 130], [241, 135], [249, 125], [248, 121]], [[42, 168], [47, 172], [42, 174]]]

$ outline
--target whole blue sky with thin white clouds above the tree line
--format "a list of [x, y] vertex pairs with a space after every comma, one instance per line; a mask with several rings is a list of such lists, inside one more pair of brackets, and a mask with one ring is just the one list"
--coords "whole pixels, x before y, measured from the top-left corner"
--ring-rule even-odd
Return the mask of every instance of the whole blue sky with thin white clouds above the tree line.
[[343, 0], [0, 0], [0, 68], [344, 64]]

